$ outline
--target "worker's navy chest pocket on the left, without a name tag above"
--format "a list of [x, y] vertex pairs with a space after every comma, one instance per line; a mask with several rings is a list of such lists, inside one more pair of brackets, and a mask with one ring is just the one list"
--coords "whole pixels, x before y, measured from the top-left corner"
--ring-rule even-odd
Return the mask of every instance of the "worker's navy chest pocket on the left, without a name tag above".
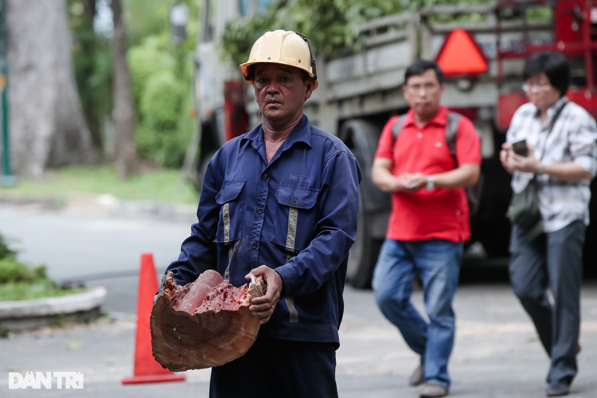
[[220, 220], [216, 232], [216, 243], [228, 243], [241, 239], [242, 218], [245, 212], [241, 192], [245, 180], [226, 183], [216, 195], [216, 202], [221, 205]]

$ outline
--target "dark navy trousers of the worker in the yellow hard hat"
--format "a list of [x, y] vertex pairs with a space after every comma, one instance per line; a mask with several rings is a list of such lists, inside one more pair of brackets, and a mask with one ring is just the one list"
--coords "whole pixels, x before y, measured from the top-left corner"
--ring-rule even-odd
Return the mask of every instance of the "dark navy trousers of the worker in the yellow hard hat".
[[244, 356], [211, 368], [210, 398], [335, 398], [336, 347], [257, 337]]

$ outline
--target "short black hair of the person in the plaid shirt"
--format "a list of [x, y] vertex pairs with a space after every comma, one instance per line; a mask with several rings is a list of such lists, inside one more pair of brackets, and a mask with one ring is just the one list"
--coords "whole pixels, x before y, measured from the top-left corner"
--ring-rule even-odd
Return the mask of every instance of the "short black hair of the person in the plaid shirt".
[[523, 78], [527, 80], [538, 73], [545, 73], [549, 83], [563, 97], [570, 86], [570, 65], [566, 57], [556, 51], [538, 51], [528, 58], [524, 66]]

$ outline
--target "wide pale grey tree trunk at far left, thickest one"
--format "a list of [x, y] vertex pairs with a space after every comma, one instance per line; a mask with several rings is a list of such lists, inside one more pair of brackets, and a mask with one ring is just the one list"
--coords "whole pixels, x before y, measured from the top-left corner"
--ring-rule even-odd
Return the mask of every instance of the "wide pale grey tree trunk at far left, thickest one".
[[16, 174], [94, 163], [75, 83], [66, 0], [8, 0], [11, 161]]

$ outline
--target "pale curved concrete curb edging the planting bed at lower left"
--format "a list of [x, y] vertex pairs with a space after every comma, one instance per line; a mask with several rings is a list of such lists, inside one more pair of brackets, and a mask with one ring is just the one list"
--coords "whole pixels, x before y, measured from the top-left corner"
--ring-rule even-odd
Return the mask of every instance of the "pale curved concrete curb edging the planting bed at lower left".
[[0, 320], [72, 314], [100, 307], [106, 298], [106, 288], [97, 286], [90, 291], [60, 297], [35, 300], [0, 301]]

